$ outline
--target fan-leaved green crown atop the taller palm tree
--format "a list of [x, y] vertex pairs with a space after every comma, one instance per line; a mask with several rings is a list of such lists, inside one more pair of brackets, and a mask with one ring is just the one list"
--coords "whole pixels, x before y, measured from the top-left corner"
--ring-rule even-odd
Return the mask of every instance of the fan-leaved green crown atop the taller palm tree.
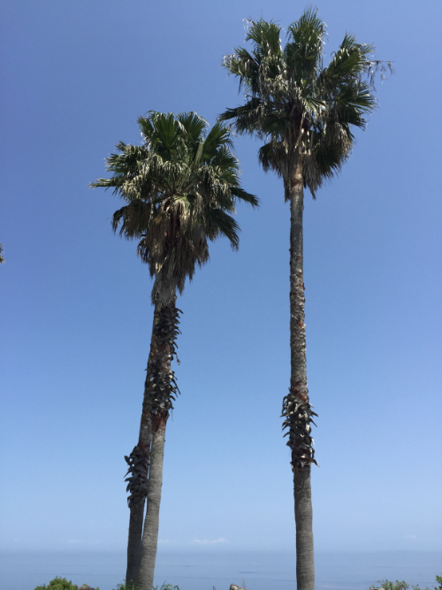
[[324, 178], [347, 159], [354, 142], [351, 126], [366, 126], [365, 116], [376, 106], [373, 75], [385, 65], [370, 59], [371, 45], [346, 34], [324, 67], [325, 24], [313, 9], [288, 27], [284, 48], [280, 32], [274, 22], [251, 22], [246, 41], [253, 50], [236, 48], [225, 57], [225, 68], [239, 78], [246, 101], [220, 119], [235, 119], [240, 134], [267, 140], [259, 159], [265, 171], [285, 180], [286, 199], [299, 159], [304, 187], [315, 196]]

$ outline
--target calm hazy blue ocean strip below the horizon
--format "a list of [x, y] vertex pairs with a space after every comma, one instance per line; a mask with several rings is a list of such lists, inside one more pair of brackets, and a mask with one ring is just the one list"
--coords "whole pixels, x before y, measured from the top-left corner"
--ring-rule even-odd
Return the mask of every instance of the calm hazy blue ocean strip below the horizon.
[[[125, 577], [125, 553], [0, 553], [0, 590], [34, 590], [60, 576], [73, 583], [113, 590]], [[159, 553], [154, 584], [180, 590], [295, 590], [293, 554]], [[404, 579], [421, 588], [442, 575], [442, 552], [317, 553], [316, 589], [368, 590], [381, 579]]]

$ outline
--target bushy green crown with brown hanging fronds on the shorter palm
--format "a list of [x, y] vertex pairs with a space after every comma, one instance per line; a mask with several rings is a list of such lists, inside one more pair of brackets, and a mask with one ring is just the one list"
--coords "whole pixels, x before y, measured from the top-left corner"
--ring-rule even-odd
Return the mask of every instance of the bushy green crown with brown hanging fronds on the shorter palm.
[[91, 186], [113, 188], [126, 201], [112, 226], [117, 231], [121, 224], [121, 235], [139, 239], [137, 253], [156, 277], [152, 301], [165, 304], [207, 262], [208, 241], [225, 235], [238, 248], [236, 200], [258, 202], [240, 187], [227, 127], [217, 123], [208, 131], [194, 112], [150, 111], [138, 123], [141, 146], [119, 142], [107, 159], [113, 176]]

